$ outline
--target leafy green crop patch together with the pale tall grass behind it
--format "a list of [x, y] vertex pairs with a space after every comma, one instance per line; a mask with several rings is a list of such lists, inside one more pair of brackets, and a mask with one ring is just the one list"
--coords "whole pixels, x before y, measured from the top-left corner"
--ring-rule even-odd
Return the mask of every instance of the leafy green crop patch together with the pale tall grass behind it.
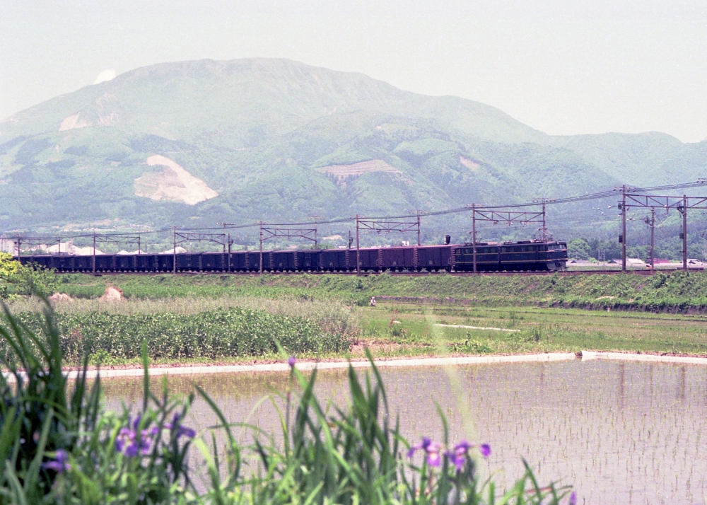
[[[151, 359], [204, 362], [271, 359], [278, 346], [304, 356], [349, 351], [360, 330], [356, 314], [337, 301], [293, 298], [168, 298], [57, 301], [60, 344], [67, 361], [78, 364], [139, 362], [141, 342]], [[19, 320], [41, 330], [41, 303], [11, 303]], [[0, 352], [8, 349], [0, 347]]]

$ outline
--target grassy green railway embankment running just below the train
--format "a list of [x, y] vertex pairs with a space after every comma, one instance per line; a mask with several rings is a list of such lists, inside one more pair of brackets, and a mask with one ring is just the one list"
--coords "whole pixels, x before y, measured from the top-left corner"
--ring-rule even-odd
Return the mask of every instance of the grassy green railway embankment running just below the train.
[[[387, 274], [243, 275], [173, 277], [62, 275], [59, 289], [79, 298], [98, 297], [115, 284], [130, 298], [249, 296], [304, 300], [336, 299], [367, 305], [370, 296], [396, 301], [470, 306], [540, 306], [687, 313], [707, 309], [707, 272], [610, 275], [421, 277]], [[384, 300], [385, 298], [379, 298]]]

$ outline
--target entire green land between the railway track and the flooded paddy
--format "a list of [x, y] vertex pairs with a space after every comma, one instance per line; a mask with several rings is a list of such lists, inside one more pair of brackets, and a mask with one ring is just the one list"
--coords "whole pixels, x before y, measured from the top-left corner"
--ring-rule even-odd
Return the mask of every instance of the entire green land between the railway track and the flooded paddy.
[[[61, 291], [74, 297], [56, 305], [70, 361], [91, 339], [98, 346], [95, 363], [136, 363], [143, 338], [153, 359], [165, 363], [281, 359], [278, 343], [317, 359], [363, 356], [365, 347], [377, 357], [583, 349], [707, 355], [702, 272], [61, 280]], [[109, 284], [122, 289], [124, 301], [98, 299]], [[370, 296], [378, 298], [375, 308], [368, 307]], [[32, 320], [40, 306], [23, 299], [11, 308]], [[293, 337], [295, 328], [302, 339]]]

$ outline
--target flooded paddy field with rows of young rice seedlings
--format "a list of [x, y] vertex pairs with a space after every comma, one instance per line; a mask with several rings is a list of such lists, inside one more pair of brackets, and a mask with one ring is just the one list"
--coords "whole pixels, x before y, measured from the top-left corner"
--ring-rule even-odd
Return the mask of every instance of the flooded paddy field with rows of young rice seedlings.
[[[359, 371], [359, 373], [365, 373]], [[440, 405], [450, 442], [491, 444], [486, 472], [505, 471], [510, 483], [521, 458], [540, 482], [573, 484], [578, 503], [695, 504], [707, 494], [707, 367], [616, 361], [381, 368], [392, 414], [409, 441], [440, 440]], [[155, 379], [158, 387], [161, 379]], [[232, 422], [279, 432], [274, 394], [288, 387], [288, 373], [172, 376], [173, 393], [192, 383], [209, 392]], [[322, 371], [320, 400], [345, 405], [346, 371]], [[104, 382], [107, 406], [137, 405], [141, 381]], [[201, 400], [189, 422], [215, 424]], [[242, 434], [243, 441], [252, 439]], [[503, 477], [501, 478], [503, 480]]]

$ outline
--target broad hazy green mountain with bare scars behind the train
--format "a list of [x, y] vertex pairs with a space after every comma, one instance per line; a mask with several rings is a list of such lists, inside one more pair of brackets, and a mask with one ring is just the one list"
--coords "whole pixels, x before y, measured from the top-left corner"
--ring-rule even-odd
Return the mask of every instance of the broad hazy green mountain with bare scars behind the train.
[[287, 59], [165, 63], [0, 123], [0, 230], [405, 214], [684, 182], [706, 160], [707, 142], [551, 137]]

